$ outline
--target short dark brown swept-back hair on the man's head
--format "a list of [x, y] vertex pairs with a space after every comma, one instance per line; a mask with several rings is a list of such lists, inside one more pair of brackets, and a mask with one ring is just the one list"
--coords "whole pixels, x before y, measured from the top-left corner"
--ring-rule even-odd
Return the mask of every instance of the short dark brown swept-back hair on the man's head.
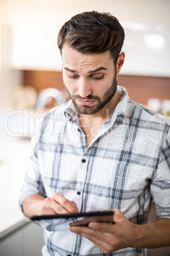
[[124, 29], [110, 13], [87, 11], [65, 22], [58, 33], [58, 48], [64, 43], [81, 53], [110, 51], [116, 64], [124, 43]]

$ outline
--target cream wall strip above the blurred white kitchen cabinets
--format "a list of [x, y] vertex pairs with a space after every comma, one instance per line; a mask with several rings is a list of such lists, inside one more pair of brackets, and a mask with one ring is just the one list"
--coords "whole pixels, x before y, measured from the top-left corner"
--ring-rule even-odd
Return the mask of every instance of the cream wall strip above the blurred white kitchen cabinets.
[[[1, 22], [43, 22], [63, 24], [75, 13], [110, 11], [121, 21], [170, 24], [169, 0], [1, 0]], [[31, 15], [31, 16], [30, 16]]]

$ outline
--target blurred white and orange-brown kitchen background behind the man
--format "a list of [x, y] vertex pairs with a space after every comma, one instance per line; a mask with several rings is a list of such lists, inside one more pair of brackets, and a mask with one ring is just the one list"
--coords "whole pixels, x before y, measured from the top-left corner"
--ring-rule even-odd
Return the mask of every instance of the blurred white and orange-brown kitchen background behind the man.
[[[41, 117], [69, 99], [56, 45], [60, 27], [82, 11], [109, 11], [126, 32], [118, 83], [134, 101], [170, 115], [169, 0], [0, 0], [0, 252], [41, 255], [42, 230], [23, 220], [20, 188], [30, 137]], [[150, 221], [155, 218], [152, 208]], [[168, 248], [149, 255], [170, 255]]]

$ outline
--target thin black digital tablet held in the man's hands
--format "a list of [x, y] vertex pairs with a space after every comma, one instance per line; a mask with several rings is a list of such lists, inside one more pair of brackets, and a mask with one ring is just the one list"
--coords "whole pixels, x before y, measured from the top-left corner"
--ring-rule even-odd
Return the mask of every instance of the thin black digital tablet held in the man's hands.
[[30, 220], [48, 231], [68, 231], [70, 225], [88, 225], [89, 222], [111, 222], [113, 224], [112, 215], [114, 215], [114, 211], [92, 211], [61, 215], [36, 215], [30, 217]]

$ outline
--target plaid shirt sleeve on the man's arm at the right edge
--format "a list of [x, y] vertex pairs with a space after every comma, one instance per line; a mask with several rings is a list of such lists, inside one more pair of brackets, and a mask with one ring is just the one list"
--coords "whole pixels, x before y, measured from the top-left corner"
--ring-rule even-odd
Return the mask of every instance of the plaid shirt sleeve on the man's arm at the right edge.
[[170, 218], [170, 130], [160, 150], [159, 165], [150, 190], [157, 218]]

